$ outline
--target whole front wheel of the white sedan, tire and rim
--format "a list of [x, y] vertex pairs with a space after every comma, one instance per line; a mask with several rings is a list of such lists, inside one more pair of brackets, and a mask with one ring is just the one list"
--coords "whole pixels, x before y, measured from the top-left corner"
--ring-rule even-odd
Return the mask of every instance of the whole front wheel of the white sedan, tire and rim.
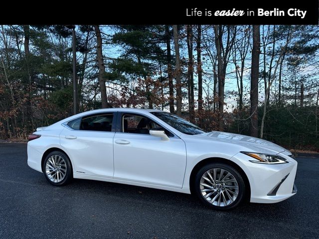
[[225, 163], [209, 163], [200, 168], [193, 188], [200, 201], [220, 211], [236, 208], [244, 200], [246, 190], [240, 173]]

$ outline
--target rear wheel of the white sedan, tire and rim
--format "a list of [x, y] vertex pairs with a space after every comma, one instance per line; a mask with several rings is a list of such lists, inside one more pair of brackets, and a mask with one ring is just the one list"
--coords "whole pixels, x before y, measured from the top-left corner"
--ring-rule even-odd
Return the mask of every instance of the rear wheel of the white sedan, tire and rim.
[[43, 173], [48, 182], [54, 186], [63, 186], [73, 178], [69, 157], [61, 151], [49, 153], [43, 162]]

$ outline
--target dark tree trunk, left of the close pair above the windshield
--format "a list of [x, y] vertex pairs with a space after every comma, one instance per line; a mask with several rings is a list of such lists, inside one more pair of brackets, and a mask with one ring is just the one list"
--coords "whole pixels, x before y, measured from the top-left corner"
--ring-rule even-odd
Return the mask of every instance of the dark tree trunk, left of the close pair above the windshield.
[[195, 107], [194, 107], [194, 64], [193, 64], [193, 30], [192, 25], [187, 25], [187, 50], [188, 50], [188, 109], [189, 121], [195, 122]]

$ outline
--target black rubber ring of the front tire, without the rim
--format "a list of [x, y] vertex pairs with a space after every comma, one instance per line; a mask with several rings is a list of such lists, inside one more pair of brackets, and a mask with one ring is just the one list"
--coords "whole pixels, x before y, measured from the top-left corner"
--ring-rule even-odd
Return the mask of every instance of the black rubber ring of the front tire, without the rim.
[[[239, 193], [238, 193], [238, 196], [236, 198], [236, 200], [228, 205], [228, 206], [225, 206], [225, 207], [218, 207], [218, 206], [215, 206], [215, 205], [212, 205], [211, 203], [207, 202], [206, 199], [204, 199], [204, 197], [202, 196], [201, 192], [200, 192], [200, 188], [199, 188], [199, 184], [200, 184], [200, 179], [202, 177], [202, 175], [208, 171], [209, 169], [212, 169], [212, 168], [221, 168], [221, 169], [225, 169], [227, 170], [228, 172], [230, 172], [237, 180], [237, 183], [238, 183], [238, 186], [239, 186]], [[198, 172], [196, 173], [196, 176], [195, 176], [195, 180], [194, 180], [194, 192], [196, 193], [197, 197], [208, 207], [210, 208], [213, 208], [215, 210], [220, 210], [220, 211], [227, 211], [227, 210], [231, 210], [231, 209], [234, 209], [235, 207], [237, 207], [240, 203], [243, 202], [244, 200], [244, 196], [245, 196], [245, 183], [244, 183], [244, 180], [242, 178], [242, 176], [240, 175], [240, 173], [235, 169], [233, 168], [232, 166], [230, 165], [227, 165], [225, 163], [209, 163], [209, 164], [206, 164], [205, 166], [203, 166], [202, 168], [200, 168], [198, 170]]]

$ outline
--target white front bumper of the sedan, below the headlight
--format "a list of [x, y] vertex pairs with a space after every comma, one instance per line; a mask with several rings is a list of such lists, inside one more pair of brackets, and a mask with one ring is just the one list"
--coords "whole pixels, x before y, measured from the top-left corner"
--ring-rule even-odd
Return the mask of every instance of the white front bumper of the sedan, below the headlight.
[[250, 183], [250, 202], [277, 203], [297, 192], [294, 181], [297, 172], [297, 161], [279, 154], [287, 159], [283, 164], [259, 164], [250, 162], [251, 157], [242, 153], [232, 159], [241, 166]]

